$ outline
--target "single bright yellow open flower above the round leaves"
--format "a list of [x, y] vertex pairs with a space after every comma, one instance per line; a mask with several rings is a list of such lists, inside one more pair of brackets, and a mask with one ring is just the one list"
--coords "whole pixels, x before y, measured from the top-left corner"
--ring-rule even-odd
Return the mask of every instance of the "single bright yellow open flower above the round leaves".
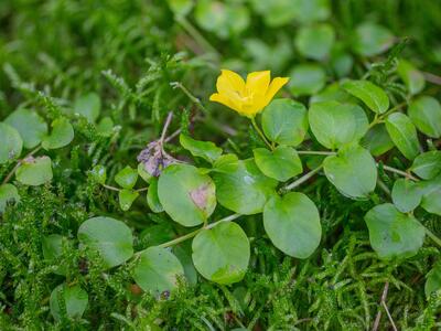
[[270, 71], [248, 74], [247, 82], [232, 71], [220, 71], [217, 78], [217, 93], [209, 100], [223, 104], [240, 115], [255, 117], [275, 97], [276, 93], [288, 83], [289, 78], [277, 77], [271, 82]]

